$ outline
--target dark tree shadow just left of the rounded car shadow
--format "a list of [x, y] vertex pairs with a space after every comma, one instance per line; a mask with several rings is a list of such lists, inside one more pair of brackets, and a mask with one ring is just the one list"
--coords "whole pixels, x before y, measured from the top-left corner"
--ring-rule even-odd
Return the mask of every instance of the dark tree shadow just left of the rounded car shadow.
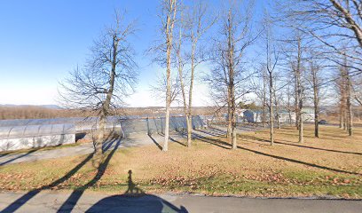
[[75, 191], [73, 191], [73, 193], [70, 194], [70, 196], [67, 198], [67, 201], [65, 201], [63, 205], [59, 208], [58, 212], [71, 212], [75, 208], [76, 203], [82, 197], [84, 191], [87, 188], [90, 188], [91, 186], [95, 185], [98, 182], [98, 180], [101, 177], [103, 177], [103, 175], [106, 172], [106, 167], [108, 166], [108, 163], [111, 161], [115, 151], [118, 149], [118, 146], [120, 145], [121, 145], [121, 139], [118, 139], [116, 145], [114, 146], [110, 154], [106, 156], [106, 160], [104, 162], [101, 162], [100, 165], [98, 166], [97, 174], [87, 184], [76, 188]]

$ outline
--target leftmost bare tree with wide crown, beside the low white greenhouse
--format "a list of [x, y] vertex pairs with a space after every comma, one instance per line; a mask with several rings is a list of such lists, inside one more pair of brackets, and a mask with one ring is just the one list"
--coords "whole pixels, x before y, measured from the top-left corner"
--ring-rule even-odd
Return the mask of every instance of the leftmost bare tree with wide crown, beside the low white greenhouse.
[[102, 154], [106, 116], [113, 108], [124, 106], [124, 99], [134, 91], [138, 73], [129, 37], [135, 33], [134, 22], [125, 23], [115, 12], [114, 26], [106, 28], [91, 48], [84, 67], [77, 67], [60, 83], [59, 95], [67, 106], [97, 112], [99, 118], [96, 155]]

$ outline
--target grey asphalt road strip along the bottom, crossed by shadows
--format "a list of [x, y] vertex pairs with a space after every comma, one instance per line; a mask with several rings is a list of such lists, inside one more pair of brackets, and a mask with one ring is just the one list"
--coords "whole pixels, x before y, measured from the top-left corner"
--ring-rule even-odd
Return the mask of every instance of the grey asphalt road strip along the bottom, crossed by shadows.
[[[72, 197], [76, 199], [69, 199]], [[362, 201], [207, 197], [190, 194], [134, 197], [88, 192], [76, 196], [71, 192], [44, 191], [35, 196], [27, 196], [27, 193], [0, 193], [0, 209], [1, 212], [360, 213]]]

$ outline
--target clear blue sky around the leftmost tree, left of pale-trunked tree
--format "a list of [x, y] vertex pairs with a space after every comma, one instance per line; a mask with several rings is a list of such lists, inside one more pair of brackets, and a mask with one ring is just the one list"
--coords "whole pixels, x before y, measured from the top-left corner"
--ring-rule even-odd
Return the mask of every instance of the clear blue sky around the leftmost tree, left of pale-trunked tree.
[[[257, 1], [257, 8], [262, 2]], [[157, 0], [2, 1], [0, 104], [56, 104], [58, 81], [83, 64], [93, 40], [112, 23], [115, 8], [126, 10], [127, 19], [138, 20], [138, 33], [131, 43], [137, 52], [140, 82], [130, 106], [162, 106], [149, 91], [154, 75], [162, 70], [145, 55], [157, 36], [158, 5]], [[197, 89], [206, 90], [204, 85]], [[195, 104], [201, 106], [201, 102]]]

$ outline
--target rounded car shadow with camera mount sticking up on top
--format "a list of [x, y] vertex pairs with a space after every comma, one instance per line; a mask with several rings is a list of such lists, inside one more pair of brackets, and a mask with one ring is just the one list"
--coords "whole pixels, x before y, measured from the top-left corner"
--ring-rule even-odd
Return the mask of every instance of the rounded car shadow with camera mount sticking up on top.
[[128, 189], [125, 193], [106, 197], [86, 212], [187, 213], [188, 211], [183, 206], [178, 209], [161, 197], [145, 193], [133, 182], [132, 170], [129, 170]]

